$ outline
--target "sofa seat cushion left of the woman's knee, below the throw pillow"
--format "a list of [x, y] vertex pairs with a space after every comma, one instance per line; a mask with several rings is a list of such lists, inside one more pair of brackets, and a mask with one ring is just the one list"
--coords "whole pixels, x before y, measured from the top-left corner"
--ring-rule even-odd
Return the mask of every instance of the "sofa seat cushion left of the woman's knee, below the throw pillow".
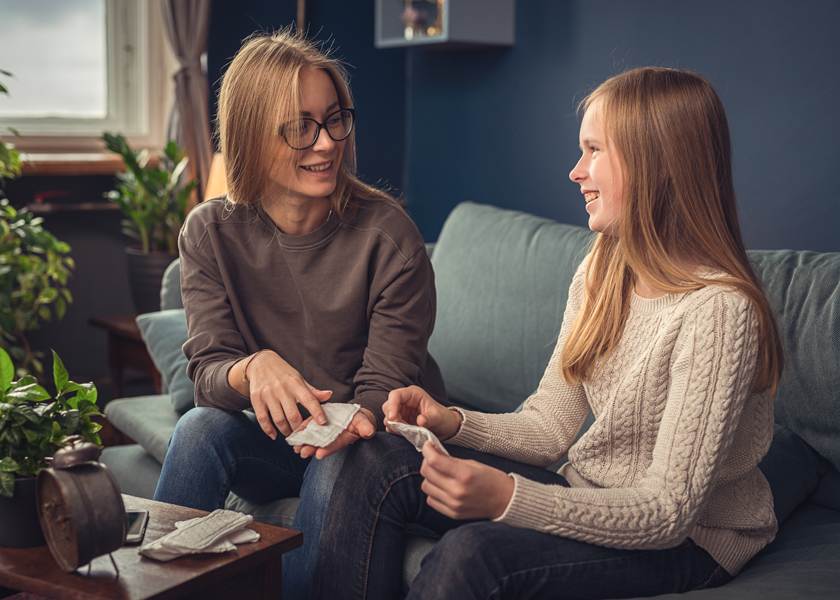
[[105, 417], [162, 464], [181, 414], [173, 410], [168, 395], [161, 395], [111, 400]]

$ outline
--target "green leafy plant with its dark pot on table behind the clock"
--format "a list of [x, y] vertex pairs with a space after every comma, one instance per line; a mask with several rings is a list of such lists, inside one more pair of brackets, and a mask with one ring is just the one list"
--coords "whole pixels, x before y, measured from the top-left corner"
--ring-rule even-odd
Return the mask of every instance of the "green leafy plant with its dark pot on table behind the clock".
[[38, 473], [68, 436], [101, 445], [102, 426], [90, 419], [102, 413], [96, 386], [70, 381], [55, 351], [55, 396], [31, 375], [14, 379], [12, 360], [0, 349], [0, 546], [21, 548], [46, 543], [35, 504]]

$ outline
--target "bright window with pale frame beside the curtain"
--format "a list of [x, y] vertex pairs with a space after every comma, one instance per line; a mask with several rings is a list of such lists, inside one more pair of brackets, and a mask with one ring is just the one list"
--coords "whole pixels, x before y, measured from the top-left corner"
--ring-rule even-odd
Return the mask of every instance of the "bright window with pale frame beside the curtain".
[[0, 0], [0, 131], [22, 151], [102, 151], [104, 131], [163, 147], [177, 64], [159, 2]]

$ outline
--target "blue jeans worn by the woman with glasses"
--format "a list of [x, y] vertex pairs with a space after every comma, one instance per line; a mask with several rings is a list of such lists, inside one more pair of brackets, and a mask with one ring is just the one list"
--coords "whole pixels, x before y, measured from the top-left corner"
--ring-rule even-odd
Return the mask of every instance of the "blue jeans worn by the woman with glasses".
[[282, 435], [272, 440], [250, 412], [197, 407], [178, 421], [155, 500], [213, 511], [229, 492], [254, 504], [300, 496], [293, 528], [303, 546], [283, 556], [283, 597], [306, 598], [324, 513], [344, 452], [302, 459]]

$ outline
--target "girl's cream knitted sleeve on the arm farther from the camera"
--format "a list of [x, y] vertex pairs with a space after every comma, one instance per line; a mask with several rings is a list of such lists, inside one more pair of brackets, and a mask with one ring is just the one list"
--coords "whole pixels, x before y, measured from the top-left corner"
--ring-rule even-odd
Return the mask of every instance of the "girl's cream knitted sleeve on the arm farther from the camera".
[[563, 458], [589, 413], [583, 385], [569, 385], [559, 371], [560, 352], [583, 303], [586, 263], [585, 259], [575, 273], [554, 353], [522, 412], [490, 415], [463, 410], [461, 430], [447, 443], [541, 467]]

